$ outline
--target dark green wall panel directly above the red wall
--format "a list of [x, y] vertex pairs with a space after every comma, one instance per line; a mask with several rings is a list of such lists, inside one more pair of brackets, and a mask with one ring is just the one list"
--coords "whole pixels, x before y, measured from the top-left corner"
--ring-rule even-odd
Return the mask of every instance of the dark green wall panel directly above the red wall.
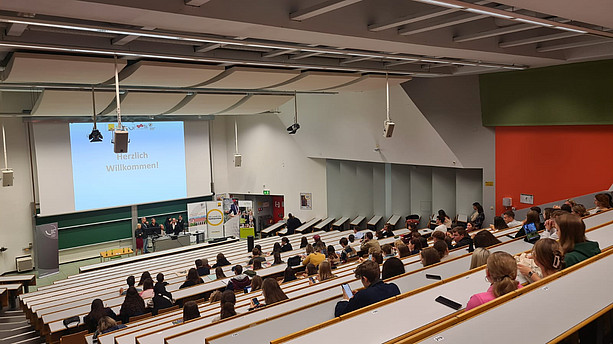
[[613, 124], [613, 60], [479, 76], [484, 126]]

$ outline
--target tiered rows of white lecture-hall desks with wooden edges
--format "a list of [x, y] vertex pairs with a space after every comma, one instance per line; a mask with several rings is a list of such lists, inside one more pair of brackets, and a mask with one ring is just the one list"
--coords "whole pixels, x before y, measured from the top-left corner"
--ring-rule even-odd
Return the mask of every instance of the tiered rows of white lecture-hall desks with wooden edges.
[[[302, 237], [313, 242], [312, 234], [303, 234], [316, 229], [338, 227], [346, 224], [350, 219], [342, 218], [335, 223], [335, 219], [311, 219], [296, 230], [296, 234], [288, 235], [293, 251], [282, 253], [284, 262], [288, 258], [304, 253], [299, 248]], [[358, 221], [359, 220], [359, 221]], [[356, 218], [353, 222], [363, 222], [365, 218]], [[381, 218], [377, 219], [375, 224]], [[320, 222], [321, 221], [321, 222]], [[369, 221], [373, 222], [374, 219]], [[321, 225], [323, 222], [327, 222]], [[388, 221], [389, 222], [389, 221]], [[485, 291], [488, 283], [485, 281], [484, 267], [469, 270], [472, 254], [466, 247], [451, 250], [449, 256], [440, 263], [423, 267], [420, 255], [412, 255], [401, 259], [405, 273], [386, 282], [395, 283], [401, 294], [356, 310], [341, 317], [334, 317], [334, 306], [342, 300], [341, 284], [348, 283], [354, 290], [362, 288], [359, 280], [354, 276], [354, 270], [359, 261], [352, 260], [339, 265], [333, 270], [334, 278], [320, 283], [309, 283], [309, 279], [297, 279], [282, 283], [281, 289], [288, 296], [285, 301], [277, 302], [263, 308], [249, 311], [250, 300], [254, 297], [263, 299], [261, 290], [251, 293], [236, 294], [236, 316], [213, 322], [219, 315], [219, 302], [209, 303], [201, 300], [198, 303], [200, 318], [176, 324], [182, 319], [182, 310], [178, 307], [161, 312], [157, 316], [146, 316], [140, 319], [130, 319], [126, 327], [110, 333], [102, 334], [98, 341], [102, 344], [188, 344], [188, 343], [307, 343], [321, 341], [321, 338], [330, 338], [356, 343], [382, 343], [398, 342], [413, 343], [417, 341], [437, 341], [437, 338], [453, 339], [452, 342], [466, 342], [474, 335], [476, 327], [496, 328], [507, 333], [498, 342], [511, 342], [516, 336], [513, 326], [502, 324], [514, 323], [523, 317], [522, 323], [539, 326], [542, 319], [550, 317], [560, 318], [564, 321], [549, 326], [546, 331], [537, 331], [539, 340], [547, 342], [554, 339], [565, 338], [574, 333], [582, 324], [594, 319], [596, 315], [604, 314], [613, 304], [611, 297], [606, 295], [606, 285], [610, 285], [610, 274], [606, 273], [606, 265], [610, 263], [613, 249], [613, 211], [606, 211], [584, 218], [586, 233], [589, 240], [600, 244], [602, 253], [586, 260], [572, 268], [563, 270], [549, 276], [537, 283], [527, 285], [516, 292], [499, 297], [494, 302], [479, 306], [468, 312], [456, 311], [435, 301], [438, 296], [445, 296], [466, 306], [469, 297], [475, 293]], [[320, 226], [316, 226], [316, 224]], [[264, 253], [270, 253], [273, 245], [280, 242], [280, 237], [272, 236], [276, 231], [283, 233], [285, 228], [278, 226], [268, 234], [271, 236], [257, 239], [256, 244], [262, 247]], [[483, 230], [490, 230], [489, 228]], [[501, 243], [489, 247], [491, 252], [504, 251], [512, 255], [527, 252], [532, 244], [522, 238], [515, 239], [514, 235], [519, 227], [505, 230], [491, 230], [492, 234]], [[364, 230], [368, 232], [370, 230]], [[408, 229], [395, 230], [395, 237], [380, 239], [381, 245], [393, 244], [398, 235], [408, 233]], [[430, 230], [420, 230], [422, 234], [429, 234]], [[476, 232], [476, 231], [475, 231]], [[337, 251], [341, 250], [339, 239], [347, 237], [351, 232], [344, 231], [318, 231], [321, 240], [326, 245], [333, 245]], [[471, 234], [474, 234], [471, 233]], [[359, 241], [351, 244], [359, 251]], [[231, 265], [224, 266], [226, 278], [216, 279], [212, 275], [204, 276], [205, 283], [193, 287], [179, 289], [185, 281], [187, 270], [194, 267], [196, 259], [208, 259], [213, 265], [219, 252], [224, 253]], [[19, 302], [26, 317], [35, 329], [45, 336], [48, 343], [59, 342], [60, 338], [74, 338], [75, 332], [84, 326], [83, 317], [89, 313], [91, 302], [95, 298], [103, 300], [106, 307], [119, 313], [124, 296], [119, 293], [120, 288], [126, 288], [126, 278], [130, 275], [137, 281], [144, 271], [154, 276], [158, 273], [165, 275], [168, 282], [167, 290], [172, 292], [177, 301], [199, 299], [208, 296], [215, 290], [224, 289], [234, 275], [232, 266], [247, 265], [251, 253], [247, 251], [246, 241], [234, 241], [215, 247], [202, 247], [195, 250], [176, 252], [172, 255], [155, 256], [147, 259], [133, 260], [132, 258], [115, 260], [115, 264], [96, 269], [84, 269], [78, 275], [57, 281], [53, 285], [41, 287], [39, 290], [19, 296]], [[272, 262], [272, 257], [267, 257]], [[118, 263], [119, 262], [119, 263]], [[279, 264], [257, 270], [262, 278], [282, 276], [287, 265]], [[603, 272], [604, 271], [604, 272]], [[433, 279], [432, 276], [436, 278]], [[587, 276], [587, 277], [585, 277]], [[521, 283], [527, 283], [518, 275]], [[573, 316], [563, 317], [563, 307], [568, 302], [557, 303], [548, 300], [569, 301], [568, 293], [572, 285], [579, 281], [598, 281], [600, 288], [594, 288], [594, 297], [577, 297], [575, 303], [580, 311]], [[607, 283], [609, 282], [609, 283]], [[585, 282], [584, 282], [585, 283]], [[0, 286], [2, 287], [2, 286]], [[601, 290], [602, 289], [602, 290]], [[564, 293], [567, 294], [564, 294]], [[566, 297], [564, 297], [566, 295]], [[574, 303], [573, 303], [574, 304]], [[544, 305], [547, 305], [546, 307]], [[600, 307], [600, 308], [599, 308]], [[526, 312], [532, 309], [535, 312]], [[527, 313], [530, 313], [526, 319]], [[534, 314], [533, 314], [534, 313]], [[405, 316], [399, 316], [404, 314]], [[64, 319], [78, 316], [80, 323], [76, 328], [66, 328]], [[515, 317], [515, 318], [514, 318]], [[505, 319], [504, 322], [499, 322]], [[515, 319], [515, 320], [514, 320]], [[531, 319], [531, 320], [530, 320]], [[539, 320], [540, 319], [540, 320]], [[527, 322], [526, 322], [527, 321]], [[376, 328], [376, 331], [360, 328]], [[514, 331], [511, 333], [510, 331]], [[67, 337], [67, 335], [72, 335]], [[93, 342], [92, 334], [83, 334], [85, 341]], [[468, 337], [467, 337], [468, 336]], [[474, 339], [474, 338], [473, 338]]]

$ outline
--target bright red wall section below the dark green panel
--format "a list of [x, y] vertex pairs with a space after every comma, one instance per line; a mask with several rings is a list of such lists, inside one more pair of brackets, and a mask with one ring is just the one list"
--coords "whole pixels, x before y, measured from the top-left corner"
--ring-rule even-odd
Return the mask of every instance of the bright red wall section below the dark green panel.
[[[496, 127], [496, 214], [503, 197], [534, 204], [608, 189], [613, 184], [613, 125]], [[592, 204], [585, 205], [588, 209]]]

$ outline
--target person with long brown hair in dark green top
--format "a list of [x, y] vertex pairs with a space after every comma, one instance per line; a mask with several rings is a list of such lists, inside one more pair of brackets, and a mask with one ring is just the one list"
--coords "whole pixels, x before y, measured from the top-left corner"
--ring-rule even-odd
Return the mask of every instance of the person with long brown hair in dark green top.
[[573, 214], [556, 217], [560, 231], [560, 246], [564, 254], [565, 267], [573, 266], [600, 253], [598, 243], [585, 237], [585, 223]]

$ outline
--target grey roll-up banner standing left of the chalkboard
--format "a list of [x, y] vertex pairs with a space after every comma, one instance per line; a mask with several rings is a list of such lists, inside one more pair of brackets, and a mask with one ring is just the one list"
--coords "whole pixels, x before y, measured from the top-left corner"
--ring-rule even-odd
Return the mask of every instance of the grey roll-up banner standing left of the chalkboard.
[[60, 271], [57, 222], [36, 226], [36, 268], [38, 277]]

